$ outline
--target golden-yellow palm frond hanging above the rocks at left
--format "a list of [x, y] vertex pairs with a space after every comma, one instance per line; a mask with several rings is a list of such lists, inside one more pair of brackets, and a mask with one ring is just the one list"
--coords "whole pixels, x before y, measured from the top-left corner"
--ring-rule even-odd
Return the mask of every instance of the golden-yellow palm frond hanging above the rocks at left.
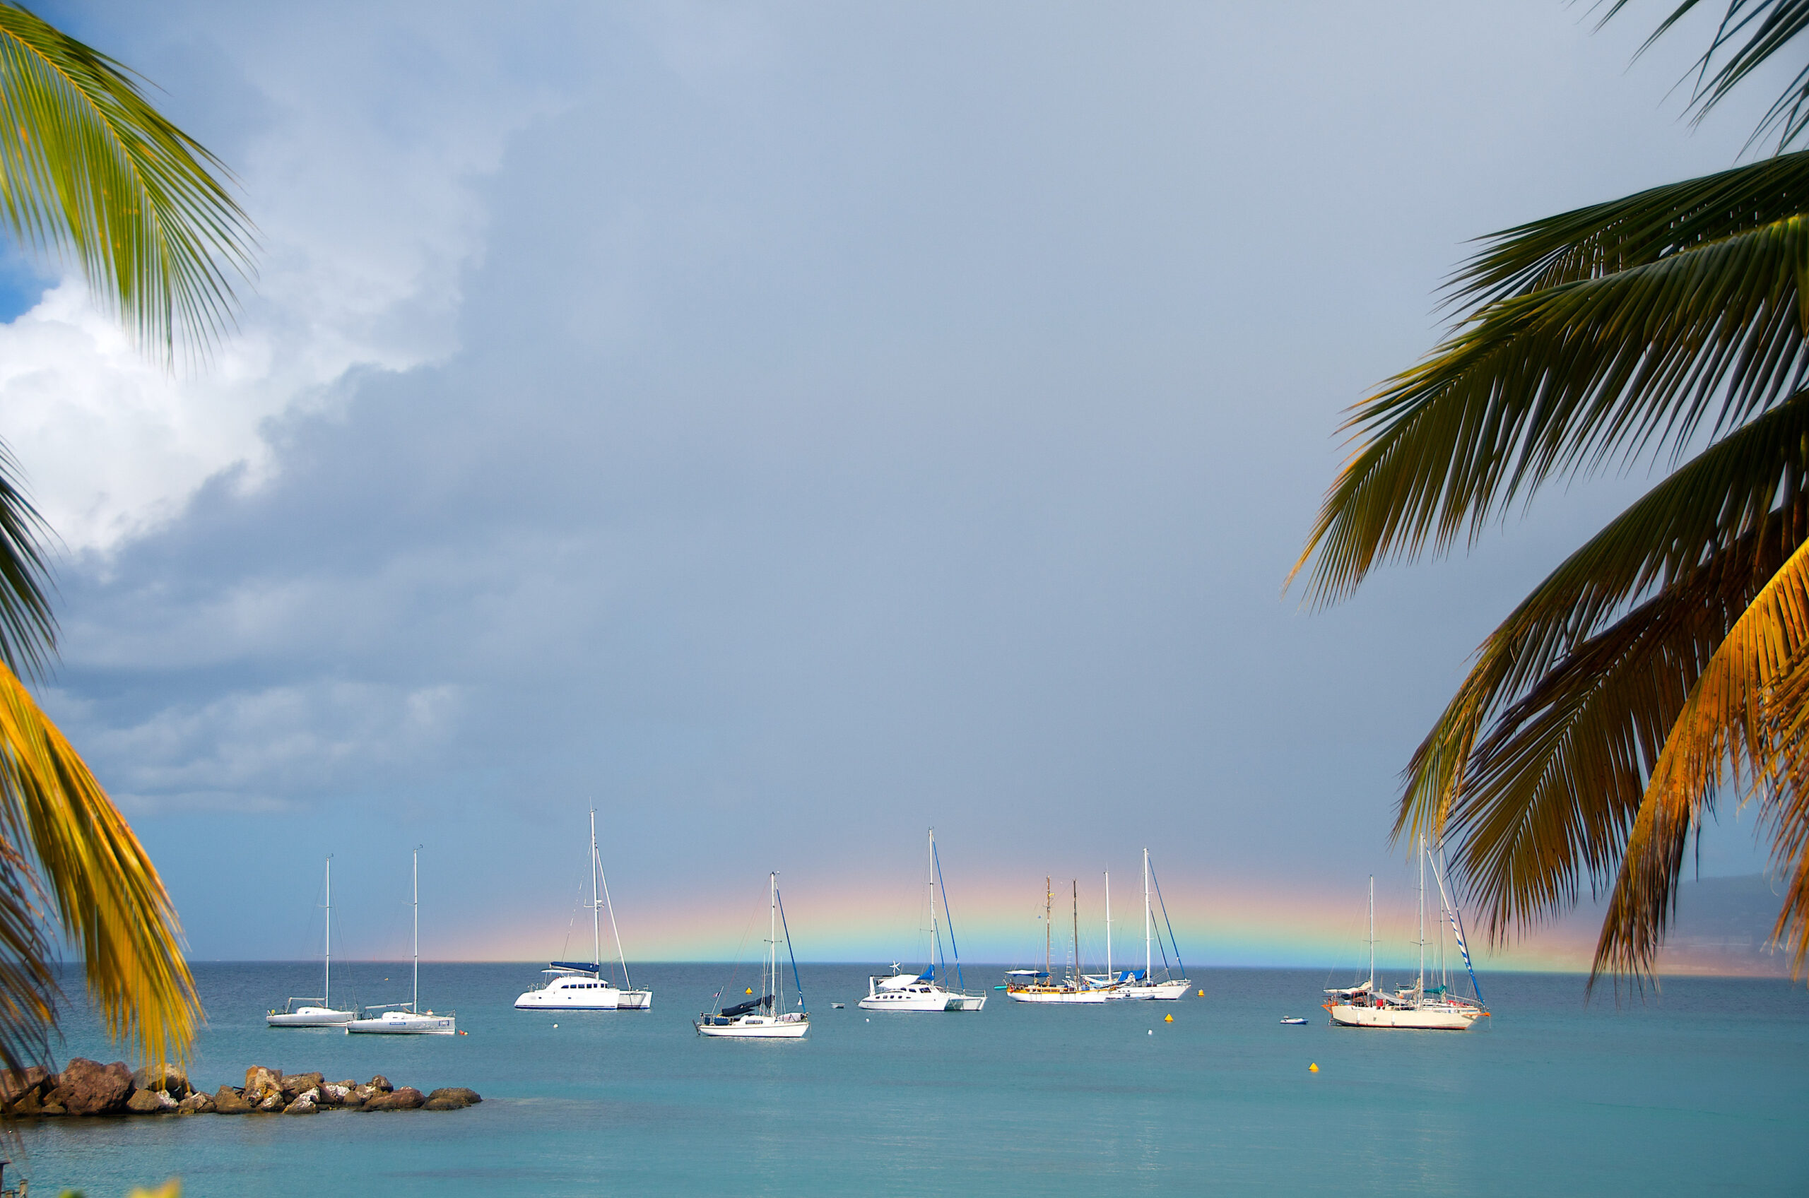
[[[31, 847], [34, 876], [63, 930], [80, 945], [89, 994], [114, 1039], [137, 1042], [148, 1060], [179, 1060], [201, 1006], [183, 961], [181, 925], [156, 867], [56, 726], [20, 680], [0, 668], [0, 841]], [[13, 849], [22, 856], [22, 849]], [[29, 890], [0, 870], [0, 961], [9, 919], [24, 919]], [[22, 961], [42, 961], [14, 928]], [[24, 968], [24, 966], [20, 966]], [[29, 968], [24, 979], [33, 981]], [[0, 972], [0, 992], [7, 977]], [[25, 986], [18, 1019], [36, 1017]], [[51, 992], [54, 994], [54, 990]], [[9, 1030], [0, 1010], [0, 1044]], [[27, 1044], [13, 1041], [13, 1044]], [[0, 1062], [4, 1062], [0, 1051]]]

